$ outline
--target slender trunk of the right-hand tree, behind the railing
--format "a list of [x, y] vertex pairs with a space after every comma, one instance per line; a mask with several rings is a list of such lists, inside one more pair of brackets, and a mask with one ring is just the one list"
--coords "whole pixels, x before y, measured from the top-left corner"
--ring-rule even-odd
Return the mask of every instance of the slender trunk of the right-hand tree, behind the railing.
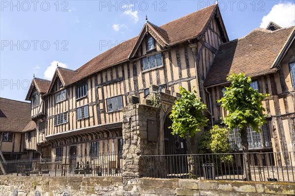
[[247, 138], [247, 127], [243, 127], [240, 130], [241, 133], [241, 141], [242, 141], [242, 148], [243, 148], [243, 180], [244, 181], [251, 181], [251, 170], [250, 170], [250, 160], [249, 160], [249, 144]]

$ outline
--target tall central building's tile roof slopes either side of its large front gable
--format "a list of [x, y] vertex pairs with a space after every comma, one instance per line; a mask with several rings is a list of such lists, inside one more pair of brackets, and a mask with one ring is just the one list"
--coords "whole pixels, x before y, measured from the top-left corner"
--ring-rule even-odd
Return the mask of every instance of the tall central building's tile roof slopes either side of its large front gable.
[[[199, 36], [203, 32], [204, 27], [207, 25], [208, 20], [216, 8], [217, 5], [214, 4], [160, 26], [167, 32], [167, 35], [163, 34], [164, 39], [169, 41], [169, 45], [173, 45]], [[126, 61], [137, 39], [138, 37], [134, 37], [94, 57], [88, 63], [76, 70], [78, 73], [73, 75], [70, 83], [74, 83], [119, 62]]]

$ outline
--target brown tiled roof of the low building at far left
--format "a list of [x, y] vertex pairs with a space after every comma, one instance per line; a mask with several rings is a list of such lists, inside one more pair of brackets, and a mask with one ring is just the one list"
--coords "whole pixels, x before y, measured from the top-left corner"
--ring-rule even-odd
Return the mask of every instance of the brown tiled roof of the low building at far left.
[[0, 118], [0, 131], [22, 132], [31, 120], [30, 103], [0, 98], [0, 110], [6, 116]]

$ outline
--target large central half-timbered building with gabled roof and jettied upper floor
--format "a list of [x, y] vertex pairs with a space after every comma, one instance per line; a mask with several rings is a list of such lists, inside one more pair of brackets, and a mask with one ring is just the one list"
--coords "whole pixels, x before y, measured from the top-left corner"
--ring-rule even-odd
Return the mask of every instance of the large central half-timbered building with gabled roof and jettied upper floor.
[[27, 100], [36, 143], [41, 142], [39, 124], [45, 122], [44, 147], [50, 144], [53, 156], [120, 152], [127, 96], [142, 102], [151, 84], [172, 93], [183, 86], [195, 88], [206, 102], [205, 75], [219, 45], [228, 41], [218, 5], [212, 5], [161, 26], [147, 20], [137, 37], [79, 69], [58, 67], [50, 82], [40, 80], [49, 84], [46, 93], [34, 79]]

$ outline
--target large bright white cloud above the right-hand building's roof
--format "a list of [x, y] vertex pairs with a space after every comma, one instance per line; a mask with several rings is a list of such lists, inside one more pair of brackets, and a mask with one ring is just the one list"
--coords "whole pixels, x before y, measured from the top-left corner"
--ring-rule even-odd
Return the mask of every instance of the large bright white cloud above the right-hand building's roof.
[[282, 27], [295, 25], [295, 3], [275, 4], [270, 12], [262, 18], [260, 27], [266, 28], [270, 21]]

